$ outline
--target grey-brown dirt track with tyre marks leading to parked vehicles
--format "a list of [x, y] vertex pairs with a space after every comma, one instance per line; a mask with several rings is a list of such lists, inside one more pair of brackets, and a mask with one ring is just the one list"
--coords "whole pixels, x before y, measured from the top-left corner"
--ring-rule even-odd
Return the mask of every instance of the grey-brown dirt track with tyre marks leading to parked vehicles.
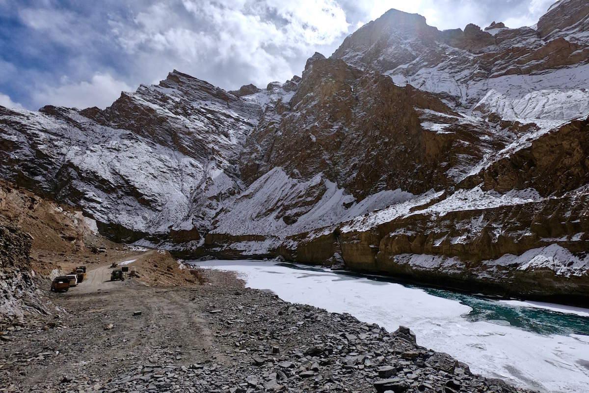
[[[125, 260], [139, 262], [154, 252]], [[78, 286], [51, 294], [67, 311], [54, 328], [21, 332], [4, 343], [0, 391], [11, 385], [14, 391], [62, 391], [65, 379], [104, 382], [141, 364], [189, 365], [211, 359], [207, 351], [217, 357], [198, 303], [190, 302], [193, 289], [111, 282], [111, 270], [110, 264], [95, 267]]]

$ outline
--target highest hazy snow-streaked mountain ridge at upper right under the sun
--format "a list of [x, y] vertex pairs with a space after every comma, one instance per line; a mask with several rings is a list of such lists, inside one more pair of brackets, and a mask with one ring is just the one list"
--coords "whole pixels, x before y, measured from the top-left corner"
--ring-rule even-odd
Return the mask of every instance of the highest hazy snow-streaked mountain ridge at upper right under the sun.
[[571, 120], [587, 114], [588, 12], [587, 2], [569, 0], [536, 28], [438, 31], [421, 15], [392, 9], [346, 38], [332, 57], [441, 94], [477, 115]]

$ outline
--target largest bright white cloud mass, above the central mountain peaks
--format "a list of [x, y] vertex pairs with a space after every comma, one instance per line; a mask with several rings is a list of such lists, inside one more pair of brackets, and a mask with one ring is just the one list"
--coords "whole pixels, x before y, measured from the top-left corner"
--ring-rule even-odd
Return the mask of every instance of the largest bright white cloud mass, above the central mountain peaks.
[[150, 80], [177, 68], [225, 88], [300, 74], [317, 48], [337, 45], [349, 32], [335, 0], [165, 2], [137, 12], [133, 24], [111, 25], [128, 54], [167, 67]]

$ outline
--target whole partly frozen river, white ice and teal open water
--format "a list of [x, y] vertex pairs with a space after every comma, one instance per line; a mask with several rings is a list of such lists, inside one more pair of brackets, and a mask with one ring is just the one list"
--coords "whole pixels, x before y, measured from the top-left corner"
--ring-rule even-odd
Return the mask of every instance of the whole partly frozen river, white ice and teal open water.
[[388, 331], [410, 327], [419, 345], [471, 371], [541, 392], [589, 392], [589, 309], [495, 300], [404, 285], [380, 276], [253, 260], [190, 261], [231, 270], [287, 302], [347, 312]]

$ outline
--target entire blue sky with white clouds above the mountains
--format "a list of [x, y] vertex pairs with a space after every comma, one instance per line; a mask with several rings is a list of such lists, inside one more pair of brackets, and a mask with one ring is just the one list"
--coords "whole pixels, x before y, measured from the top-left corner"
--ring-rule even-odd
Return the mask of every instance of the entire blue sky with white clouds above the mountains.
[[0, 0], [0, 105], [106, 107], [177, 69], [226, 89], [284, 81], [390, 8], [440, 29], [532, 25], [553, 0]]

